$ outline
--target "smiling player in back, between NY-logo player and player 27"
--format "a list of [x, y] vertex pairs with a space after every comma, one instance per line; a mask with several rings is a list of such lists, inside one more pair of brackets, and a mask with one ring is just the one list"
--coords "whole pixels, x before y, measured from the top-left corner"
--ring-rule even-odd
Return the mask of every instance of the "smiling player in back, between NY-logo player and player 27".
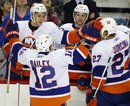
[[[79, 30], [83, 25], [85, 24], [86, 20], [88, 19], [89, 16], [89, 9], [87, 5], [84, 4], [78, 4], [73, 11], [73, 19], [74, 23], [66, 23], [61, 26], [64, 30]], [[82, 43], [85, 43], [84, 40], [80, 41]], [[73, 45], [66, 45], [66, 49], [73, 49], [77, 44]], [[89, 48], [89, 45], [86, 45]], [[69, 78], [70, 82], [76, 83], [77, 87], [79, 90], [84, 91], [90, 83], [91, 79], [91, 60], [89, 63], [84, 63], [82, 66], [81, 65], [71, 65], [69, 64], [68, 66], [68, 71], [69, 71]]]

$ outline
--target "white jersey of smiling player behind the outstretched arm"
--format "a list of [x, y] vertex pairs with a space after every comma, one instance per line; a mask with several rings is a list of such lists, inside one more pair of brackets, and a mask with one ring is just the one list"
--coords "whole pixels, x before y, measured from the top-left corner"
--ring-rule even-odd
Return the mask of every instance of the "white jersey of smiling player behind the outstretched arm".
[[[60, 27], [64, 30], [68, 30], [68, 31], [73, 31], [75, 29], [79, 30], [79, 28], [77, 28], [74, 23], [66, 23], [66, 24], [61, 25]], [[84, 42], [83, 40], [80, 42], [83, 43]], [[77, 44], [75, 44], [75, 45], [77, 45]], [[66, 45], [66, 49], [73, 49], [75, 47], [75, 45]], [[90, 63], [84, 64], [83, 66], [69, 64], [68, 71], [69, 71], [70, 82], [77, 83], [79, 76], [81, 76], [81, 75], [85, 75], [86, 77], [91, 76], [91, 64]]]

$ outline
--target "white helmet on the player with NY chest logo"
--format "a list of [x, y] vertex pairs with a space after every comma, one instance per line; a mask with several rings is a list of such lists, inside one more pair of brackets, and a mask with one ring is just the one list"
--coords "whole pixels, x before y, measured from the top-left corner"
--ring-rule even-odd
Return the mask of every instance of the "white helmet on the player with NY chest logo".
[[31, 20], [35, 21], [33, 19], [34, 14], [40, 12], [40, 13], [47, 13], [47, 9], [42, 3], [33, 3], [33, 5], [30, 8], [30, 14], [31, 14]]

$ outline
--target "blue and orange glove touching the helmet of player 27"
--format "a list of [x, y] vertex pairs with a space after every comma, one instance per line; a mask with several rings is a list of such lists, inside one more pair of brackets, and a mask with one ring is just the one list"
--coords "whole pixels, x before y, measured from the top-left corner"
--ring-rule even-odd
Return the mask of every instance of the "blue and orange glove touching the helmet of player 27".
[[98, 18], [79, 29], [79, 35], [86, 38], [88, 44], [95, 44], [100, 40], [100, 31], [103, 25]]

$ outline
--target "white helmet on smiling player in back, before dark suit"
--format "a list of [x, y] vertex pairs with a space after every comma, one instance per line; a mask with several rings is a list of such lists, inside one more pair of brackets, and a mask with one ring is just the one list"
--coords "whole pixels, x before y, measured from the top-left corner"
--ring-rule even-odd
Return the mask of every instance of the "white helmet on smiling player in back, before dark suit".
[[[85, 13], [87, 14], [86, 16], [86, 20], [88, 19], [88, 16], [89, 16], [89, 8], [87, 5], [84, 5], [84, 4], [78, 4], [75, 8], [74, 8], [74, 11], [73, 11], [73, 18], [74, 18], [74, 21], [75, 21], [75, 13]], [[85, 21], [86, 21], [85, 20]], [[85, 22], [84, 22], [85, 23]]]

